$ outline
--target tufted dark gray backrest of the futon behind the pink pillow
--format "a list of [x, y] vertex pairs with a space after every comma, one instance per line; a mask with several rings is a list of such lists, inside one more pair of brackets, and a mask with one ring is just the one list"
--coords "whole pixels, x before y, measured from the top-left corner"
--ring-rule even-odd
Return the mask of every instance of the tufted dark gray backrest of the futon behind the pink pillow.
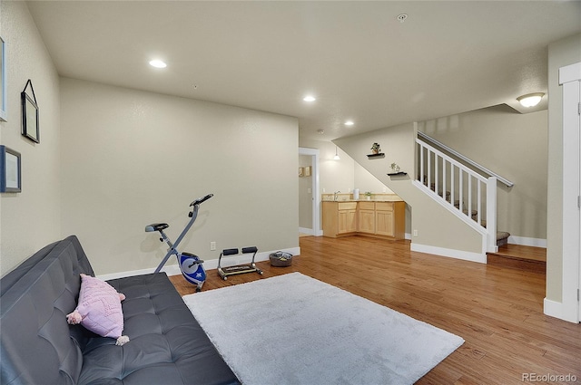
[[83, 366], [66, 314], [94, 275], [76, 236], [47, 245], [0, 279], [0, 383], [75, 384]]

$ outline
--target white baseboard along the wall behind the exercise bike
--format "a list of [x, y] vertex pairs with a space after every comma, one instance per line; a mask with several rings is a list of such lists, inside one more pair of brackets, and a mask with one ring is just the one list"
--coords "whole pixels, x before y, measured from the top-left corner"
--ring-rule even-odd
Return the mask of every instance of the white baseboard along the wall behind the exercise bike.
[[[265, 252], [261, 252], [261, 253], [256, 253], [256, 256], [254, 257], [254, 262], [268, 261], [269, 255], [271, 255], [271, 253], [275, 253], [277, 251], [291, 253], [291, 255], [300, 255], [300, 247], [291, 247], [291, 248], [286, 248], [286, 249], [281, 249], [281, 250], [273, 250], [273, 251], [265, 251]], [[233, 266], [233, 265], [249, 264], [252, 260], [251, 258], [252, 258], [251, 254], [223, 256], [221, 265], [222, 266]], [[182, 274], [182, 271], [180, 270], [180, 266], [175, 265], [175, 258], [173, 258], [173, 257], [172, 257], [172, 263], [174, 265], [169, 265], [169, 261], [168, 261], [168, 264], [163, 266], [162, 272], [164, 272], [165, 274], [168, 274], [168, 275]], [[210, 259], [210, 260], [204, 261], [203, 267], [206, 270], [217, 269], [218, 268], [218, 259]], [[149, 269], [132, 270], [132, 271], [121, 272], [121, 273], [97, 275], [97, 278], [99, 278], [103, 281], [108, 281], [110, 279], [123, 278], [126, 276], [132, 276], [132, 275], [152, 274], [154, 271], [155, 271], [155, 268], [152, 267]]]

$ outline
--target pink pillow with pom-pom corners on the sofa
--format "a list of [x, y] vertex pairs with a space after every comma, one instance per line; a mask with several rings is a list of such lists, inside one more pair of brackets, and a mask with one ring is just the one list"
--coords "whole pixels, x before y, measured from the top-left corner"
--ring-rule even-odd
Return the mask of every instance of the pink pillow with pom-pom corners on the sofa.
[[129, 342], [123, 332], [123, 294], [117, 293], [112, 285], [81, 274], [81, 292], [79, 303], [73, 313], [66, 315], [70, 324], [81, 323], [85, 329], [102, 337], [116, 338], [117, 345]]

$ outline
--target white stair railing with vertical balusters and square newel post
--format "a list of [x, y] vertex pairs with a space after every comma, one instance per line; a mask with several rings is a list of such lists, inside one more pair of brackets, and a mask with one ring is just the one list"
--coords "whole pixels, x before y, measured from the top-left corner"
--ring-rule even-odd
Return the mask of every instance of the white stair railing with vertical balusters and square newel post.
[[423, 140], [416, 143], [419, 188], [486, 235], [486, 251], [496, 252], [497, 178], [478, 174]]

